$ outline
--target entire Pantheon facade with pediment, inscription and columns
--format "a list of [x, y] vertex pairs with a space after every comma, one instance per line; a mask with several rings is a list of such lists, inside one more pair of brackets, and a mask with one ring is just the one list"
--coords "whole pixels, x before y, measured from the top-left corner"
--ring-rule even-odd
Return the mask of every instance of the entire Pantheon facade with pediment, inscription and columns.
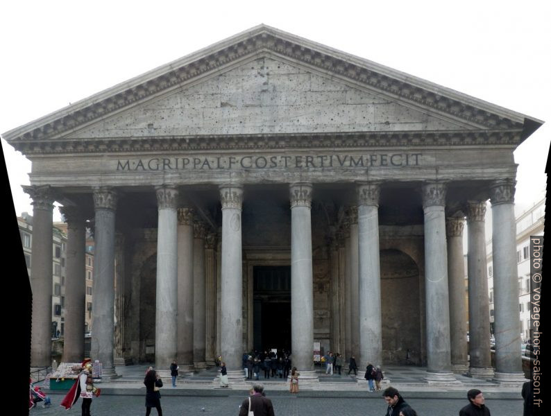
[[513, 151], [541, 123], [262, 25], [10, 130], [32, 162], [31, 365], [51, 362], [57, 201], [63, 361], [84, 354], [89, 227], [104, 376], [218, 355], [237, 376], [280, 348], [315, 380], [320, 343], [360, 368], [408, 355], [428, 381], [523, 379]]

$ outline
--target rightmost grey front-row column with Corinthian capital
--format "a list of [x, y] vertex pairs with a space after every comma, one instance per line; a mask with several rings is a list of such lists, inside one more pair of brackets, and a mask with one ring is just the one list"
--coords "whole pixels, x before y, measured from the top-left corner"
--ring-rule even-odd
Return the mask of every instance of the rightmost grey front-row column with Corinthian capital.
[[524, 379], [518, 318], [516, 222], [513, 180], [496, 181], [491, 187], [492, 257], [495, 320], [495, 379]]

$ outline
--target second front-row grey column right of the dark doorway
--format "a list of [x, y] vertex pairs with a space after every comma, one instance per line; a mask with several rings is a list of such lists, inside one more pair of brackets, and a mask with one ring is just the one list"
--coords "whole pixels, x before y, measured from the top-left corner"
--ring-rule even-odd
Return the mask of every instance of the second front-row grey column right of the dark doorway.
[[379, 186], [358, 189], [359, 363], [382, 363]]

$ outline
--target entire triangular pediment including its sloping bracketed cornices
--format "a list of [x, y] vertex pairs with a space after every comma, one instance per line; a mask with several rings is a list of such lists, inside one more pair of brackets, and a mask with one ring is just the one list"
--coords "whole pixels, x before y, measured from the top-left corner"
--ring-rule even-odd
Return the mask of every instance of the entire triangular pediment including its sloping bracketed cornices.
[[[264, 69], [254, 69], [262, 60]], [[291, 72], [266, 69], [278, 62]], [[241, 91], [232, 94], [232, 88]], [[3, 138], [21, 150], [37, 141], [69, 137], [140, 136], [144, 128], [149, 135], [151, 129], [155, 135], [242, 134], [246, 124], [257, 134], [434, 128], [517, 130], [524, 139], [541, 123], [260, 25], [10, 130]]]

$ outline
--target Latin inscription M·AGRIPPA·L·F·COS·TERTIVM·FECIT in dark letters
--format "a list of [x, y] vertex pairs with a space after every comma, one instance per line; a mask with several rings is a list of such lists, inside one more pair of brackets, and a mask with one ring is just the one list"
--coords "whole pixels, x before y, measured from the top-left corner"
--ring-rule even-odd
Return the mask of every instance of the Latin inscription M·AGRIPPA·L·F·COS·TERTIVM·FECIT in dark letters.
[[266, 168], [367, 168], [421, 166], [422, 153], [373, 153], [371, 155], [248, 155], [203, 157], [151, 157], [119, 159], [117, 171], [213, 171]]

